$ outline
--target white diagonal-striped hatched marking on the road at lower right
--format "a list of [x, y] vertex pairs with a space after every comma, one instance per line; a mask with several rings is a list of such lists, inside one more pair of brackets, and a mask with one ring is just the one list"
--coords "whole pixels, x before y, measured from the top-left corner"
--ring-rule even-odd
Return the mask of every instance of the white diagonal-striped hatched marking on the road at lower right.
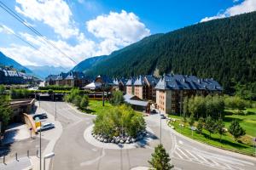
[[243, 170], [246, 165], [252, 165], [252, 163], [248, 161], [241, 161], [228, 156], [219, 156], [197, 149], [186, 149], [178, 145], [176, 145], [172, 156], [183, 161], [193, 161], [207, 167], [215, 167], [224, 170]]

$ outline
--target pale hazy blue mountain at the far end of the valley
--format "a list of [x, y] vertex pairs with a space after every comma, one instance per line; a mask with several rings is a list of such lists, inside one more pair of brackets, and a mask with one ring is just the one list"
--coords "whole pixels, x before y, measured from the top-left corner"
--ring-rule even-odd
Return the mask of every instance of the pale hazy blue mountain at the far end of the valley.
[[64, 68], [64, 67], [55, 67], [55, 66], [34, 66], [34, 65], [26, 65], [27, 68], [32, 70], [38, 77], [41, 79], [44, 79], [45, 77], [48, 77], [50, 74], [60, 74], [61, 72], [67, 72], [70, 70], [70, 68]]

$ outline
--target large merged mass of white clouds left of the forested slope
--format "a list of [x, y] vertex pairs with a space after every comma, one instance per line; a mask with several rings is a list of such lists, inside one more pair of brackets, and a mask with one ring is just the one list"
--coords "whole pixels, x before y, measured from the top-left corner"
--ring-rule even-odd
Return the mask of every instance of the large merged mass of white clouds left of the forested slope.
[[[92, 33], [96, 41], [85, 37], [84, 32], [74, 26], [73, 16], [67, 3], [62, 0], [16, 0], [20, 7], [15, 9], [31, 20], [43, 21], [44, 24], [54, 28], [61, 39], [52, 40], [57, 48], [67, 54], [77, 63], [96, 55], [110, 54], [113, 50], [137, 42], [150, 35], [150, 31], [139, 20], [136, 14], [110, 12], [108, 15], [100, 15], [95, 20], [86, 22], [87, 33]], [[1, 28], [0, 28], [1, 29]], [[13, 43], [9, 47], [0, 48], [4, 54], [15, 59], [21, 65], [54, 65], [73, 67], [71, 59], [63, 55], [56, 48], [42, 41], [41, 37], [20, 32], [17, 33], [26, 41], [31, 42], [38, 50], [26, 46], [26, 44]], [[75, 37], [73, 45], [65, 38]]]

